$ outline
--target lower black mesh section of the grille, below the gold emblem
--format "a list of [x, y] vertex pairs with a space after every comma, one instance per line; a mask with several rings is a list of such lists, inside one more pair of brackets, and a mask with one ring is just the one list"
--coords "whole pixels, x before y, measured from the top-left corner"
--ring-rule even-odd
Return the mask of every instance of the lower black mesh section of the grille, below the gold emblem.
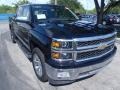
[[77, 60], [87, 60], [94, 57], [103, 56], [114, 48], [114, 45], [110, 45], [103, 50], [93, 50], [88, 52], [77, 53]]

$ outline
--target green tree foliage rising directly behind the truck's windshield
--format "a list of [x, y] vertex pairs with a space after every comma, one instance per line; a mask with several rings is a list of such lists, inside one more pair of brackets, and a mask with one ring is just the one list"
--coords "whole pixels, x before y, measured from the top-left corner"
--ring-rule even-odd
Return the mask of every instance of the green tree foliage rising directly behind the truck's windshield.
[[[55, 4], [55, 0], [50, 0], [51, 4]], [[70, 8], [74, 12], [85, 12], [83, 6], [78, 2], [78, 0], [57, 0], [58, 5], [64, 5]]]

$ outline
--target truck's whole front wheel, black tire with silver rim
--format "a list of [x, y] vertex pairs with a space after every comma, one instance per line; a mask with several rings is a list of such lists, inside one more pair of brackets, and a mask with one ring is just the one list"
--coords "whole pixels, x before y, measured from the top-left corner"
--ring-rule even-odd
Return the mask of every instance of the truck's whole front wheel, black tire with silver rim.
[[45, 57], [39, 48], [33, 49], [32, 64], [38, 79], [42, 82], [46, 82], [48, 78], [45, 69]]

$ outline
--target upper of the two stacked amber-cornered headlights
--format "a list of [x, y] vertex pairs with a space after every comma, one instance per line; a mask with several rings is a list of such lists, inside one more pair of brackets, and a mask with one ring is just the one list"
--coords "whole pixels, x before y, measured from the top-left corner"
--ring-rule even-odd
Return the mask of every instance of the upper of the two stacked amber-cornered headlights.
[[51, 47], [53, 49], [72, 49], [71, 41], [52, 41]]

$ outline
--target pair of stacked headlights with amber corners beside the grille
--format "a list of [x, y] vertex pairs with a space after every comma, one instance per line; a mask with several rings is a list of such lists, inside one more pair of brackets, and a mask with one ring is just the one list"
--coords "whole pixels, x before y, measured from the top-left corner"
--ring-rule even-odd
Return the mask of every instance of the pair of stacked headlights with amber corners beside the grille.
[[66, 61], [73, 59], [72, 52], [65, 52], [73, 50], [73, 42], [68, 40], [52, 40], [51, 43], [51, 58], [53, 60]]

